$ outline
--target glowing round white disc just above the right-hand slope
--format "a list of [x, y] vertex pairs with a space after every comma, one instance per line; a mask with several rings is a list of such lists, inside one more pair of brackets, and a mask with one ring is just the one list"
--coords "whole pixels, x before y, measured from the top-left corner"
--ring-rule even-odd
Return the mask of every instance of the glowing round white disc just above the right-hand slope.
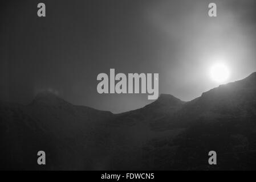
[[213, 81], [218, 83], [227, 81], [229, 74], [229, 68], [227, 68], [226, 65], [222, 63], [215, 64], [210, 69], [210, 76], [212, 77]]

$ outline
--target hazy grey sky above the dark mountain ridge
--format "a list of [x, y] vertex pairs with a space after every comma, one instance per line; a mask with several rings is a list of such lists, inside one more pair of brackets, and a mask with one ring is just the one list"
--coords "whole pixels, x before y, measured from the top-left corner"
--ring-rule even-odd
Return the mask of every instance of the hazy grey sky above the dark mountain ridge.
[[[37, 4], [46, 4], [46, 17]], [[208, 4], [217, 17], [208, 16]], [[143, 107], [148, 94], [99, 94], [99, 73], [159, 73], [159, 93], [193, 100], [256, 71], [256, 2], [6, 1], [0, 6], [0, 100], [29, 104], [51, 90], [75, 105], [113, 113]]]

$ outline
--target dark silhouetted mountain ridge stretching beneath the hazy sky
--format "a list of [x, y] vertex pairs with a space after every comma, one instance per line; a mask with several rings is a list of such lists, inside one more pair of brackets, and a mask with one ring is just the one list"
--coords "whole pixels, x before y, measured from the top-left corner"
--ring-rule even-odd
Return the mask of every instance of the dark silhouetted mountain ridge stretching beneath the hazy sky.
[[190, 102], [161, 94], [121, 114], [51, 93], [27, 106], [0, 102], [0, 135], [1, 169], [255, 169], [256, 73]]

